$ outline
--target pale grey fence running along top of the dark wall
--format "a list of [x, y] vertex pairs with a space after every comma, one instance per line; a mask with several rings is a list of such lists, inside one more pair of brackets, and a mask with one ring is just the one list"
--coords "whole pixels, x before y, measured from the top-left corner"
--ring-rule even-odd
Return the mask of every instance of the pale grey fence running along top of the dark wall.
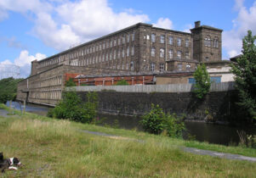
[[[210, 92], [235, 90], [234, 82], [212, 83]], [[66, 90], [77, 92], [191, 92], [192, 84], [140, 85], [140, 86], [73, 86]]]

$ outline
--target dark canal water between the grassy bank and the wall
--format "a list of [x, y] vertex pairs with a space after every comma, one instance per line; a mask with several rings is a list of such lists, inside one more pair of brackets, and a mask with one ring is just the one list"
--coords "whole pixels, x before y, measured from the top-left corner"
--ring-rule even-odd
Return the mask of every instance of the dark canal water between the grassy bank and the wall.
[[[7, 103], [9, 106], [9, 103]], [[12, 107], [18, 110], [22, 110], [23, 106], [20, 103], [12, 102]], [[46, 115], [49, 107], [28, 104], [26, 105], [26, 111]], [[139, 125], [139, 117], [122, 116], [122, 115], [110, 115], [99, 114], [102, 123], [100, 125], [110, 125], [112, 127], [123, 128], [128, 130], [143, 131], [142, 126]], [[239, 143], [239, 136], [237, 131], [247, 131], [248, 134], [256, 134], [255, 128], [242, 128], [233, 127], [230, 125], [213, 125], [204, 122], [185, 122], [186, 131], [184, 132], [184, 138], [194, 137], [199, 142], [209, 142], [222, 145], [237, 145]]]

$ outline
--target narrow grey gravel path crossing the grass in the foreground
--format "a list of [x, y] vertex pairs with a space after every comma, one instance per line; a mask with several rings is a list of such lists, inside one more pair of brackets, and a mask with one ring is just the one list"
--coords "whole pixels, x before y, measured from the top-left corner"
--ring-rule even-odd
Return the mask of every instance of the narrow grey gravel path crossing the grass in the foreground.
[[[82, 131], [84, 133], [93, 134], [93, 135], [96, 135], [96, 136], [107, 136], [107, 137], [111, 137], [111, 138], [115, 138], [115, 139], [119, 139], [119, 140], [133, 140], [133, 141], [136, 141], [136, 142], [145, 142], [143, 140], [131, 139], [131, 138], [122, 137], [122, 136], [114, 136], [114, 135], [111, 135], [111, 134], [105, 134], [105, 133], [97, 132], [97, 131], [85, 131], [85, 130], [80, 130], [80, 131]], [[182, 147], [181, 149], [185, 152], [188, 152], [188, 153], [208, 155], [208, 156], [212, 156], [212, 157], [219, 157], [221, 159], [246, 160], [246, 161], [251, 161], [251, 162], [256, 163], [256, 158], [242, 156], [242, 155], [239, 155], [239, 154], [219, 153], [219, 152], [214, 152], [214, 151], [209, 151], [209, 150], [197, 149], [197, 148], [194, 148], [194, 147]]]

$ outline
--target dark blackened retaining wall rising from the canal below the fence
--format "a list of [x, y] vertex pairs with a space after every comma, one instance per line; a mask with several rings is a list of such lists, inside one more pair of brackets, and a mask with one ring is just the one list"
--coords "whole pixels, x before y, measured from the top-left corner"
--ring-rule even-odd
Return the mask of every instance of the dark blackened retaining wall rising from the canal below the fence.
[[[86, 92], [77, 92], [86, 100]], [[236, 91], [210, 92], [203, 101], [197, 101], [191, 92], [182, 93], [127, 93], [97, 92], [99, 111], [109, 114], [145, 114], [151, 103], [159, 104], [168, 113], [185, 114], [187, 119], [215, 120], [236, 118]], [[208, 115], [207, 112], [210, 114]]]

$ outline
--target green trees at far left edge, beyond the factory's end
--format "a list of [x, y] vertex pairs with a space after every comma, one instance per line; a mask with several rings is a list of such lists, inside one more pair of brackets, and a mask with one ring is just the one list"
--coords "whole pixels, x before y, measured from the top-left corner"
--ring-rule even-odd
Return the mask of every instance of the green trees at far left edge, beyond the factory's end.
[[18, 83], [22, 80], [9, 77], [0, 81], [0, 103], [15, 99]]

